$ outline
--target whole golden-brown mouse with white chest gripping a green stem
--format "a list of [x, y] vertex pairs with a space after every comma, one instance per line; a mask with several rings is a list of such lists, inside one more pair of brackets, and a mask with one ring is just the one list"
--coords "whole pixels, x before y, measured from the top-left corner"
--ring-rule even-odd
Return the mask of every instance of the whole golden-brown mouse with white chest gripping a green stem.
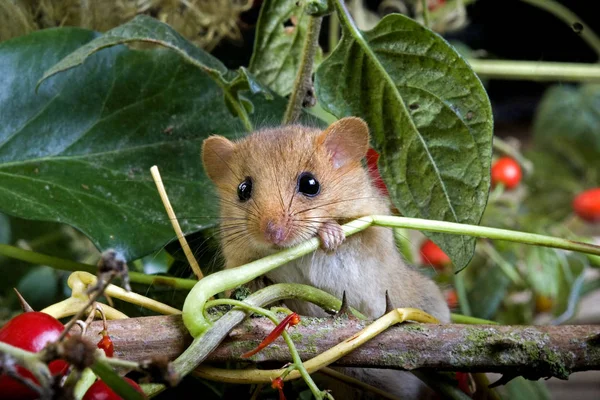
[[[387, 290], [395, 307], [416, 307], [448, 322], [450, 313], [439, 288], [404, 263], [390, 229], [370, 227], [344, 237], [341, 224], [390, 214], [389, 200], [373, 186], [362, 163], [368, 147], [367, 124], [355, 117], [323, 131], [290, 125], [260, 130], [235, 142], [221, 136], [206, 139], [202, 160], [220, 197], [226, 268], [318, 236], [321, 249], [267, 277], [309, 284], [338, 298], [345, 291], [350, 305], [372, 318], [384, 313]], [[325, 315], [312, 304], [286, 303], [304, 315]], [[371, 384], [395, 383], [397, 390], [389, 390], [418, 397], [420, 385], [407, 384], [416, 379], [410, 374], [358, 371], [364, 372], [358, 373], [363, 377], [373, 375], [368, 377]]]

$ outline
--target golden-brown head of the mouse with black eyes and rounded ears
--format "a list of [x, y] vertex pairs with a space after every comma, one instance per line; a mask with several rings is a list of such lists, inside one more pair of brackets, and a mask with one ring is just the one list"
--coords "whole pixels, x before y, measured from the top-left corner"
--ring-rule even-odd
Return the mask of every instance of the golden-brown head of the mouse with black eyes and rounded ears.
[[224, 250], [269, 254], [316, 236], [327, 221], [367, 215], [366, 204], [380, 197], [361, 162], [368, 147], [367, 124], [354, 117], [324, 131], [292, 125], [235, 142], [206, 139], [202, 160], [221, 199]]

